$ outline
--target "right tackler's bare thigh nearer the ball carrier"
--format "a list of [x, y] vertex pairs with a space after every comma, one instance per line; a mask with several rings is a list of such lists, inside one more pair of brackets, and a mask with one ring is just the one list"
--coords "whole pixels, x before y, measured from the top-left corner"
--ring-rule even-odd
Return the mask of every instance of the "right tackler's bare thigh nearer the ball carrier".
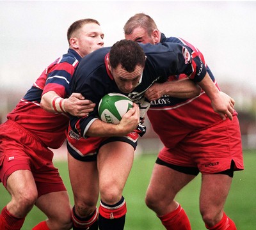
[[180, 173], [165, 165], [155, 164], [147, 189], [147, 200], [171, 202], [194, 178], [195, 175]]

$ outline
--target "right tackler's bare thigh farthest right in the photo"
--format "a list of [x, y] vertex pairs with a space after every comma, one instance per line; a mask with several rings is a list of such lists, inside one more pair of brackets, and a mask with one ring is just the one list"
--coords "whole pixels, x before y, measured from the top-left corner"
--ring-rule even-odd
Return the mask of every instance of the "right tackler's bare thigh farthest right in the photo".
[[200, 211], [203, 215], [223, 210], [231, 183], [232, 178], [225, 174], [202, 174]]

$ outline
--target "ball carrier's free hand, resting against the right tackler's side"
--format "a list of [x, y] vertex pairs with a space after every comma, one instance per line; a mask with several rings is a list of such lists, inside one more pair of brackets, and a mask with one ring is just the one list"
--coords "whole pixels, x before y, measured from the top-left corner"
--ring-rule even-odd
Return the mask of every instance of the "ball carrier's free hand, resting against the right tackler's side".
[[223, 120], [226, 118], [229, 118], [230, 120], [233, 119], [232, 114], [234, 113], [235, 104], [235, 100], [233, 98], [220, 91], [220, 93], [212, 99], [211, 103], [214, 111], [220, 114]]

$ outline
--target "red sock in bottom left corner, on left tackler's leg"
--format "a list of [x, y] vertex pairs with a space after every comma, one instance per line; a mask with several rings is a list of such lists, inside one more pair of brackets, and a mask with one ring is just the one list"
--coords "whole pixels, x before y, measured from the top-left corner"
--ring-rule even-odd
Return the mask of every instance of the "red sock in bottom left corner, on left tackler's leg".
[[0, 214], [0, 229], [1, 230], [19, 230], [25, 218], [14, 217], [6, 208], [3, 208]]

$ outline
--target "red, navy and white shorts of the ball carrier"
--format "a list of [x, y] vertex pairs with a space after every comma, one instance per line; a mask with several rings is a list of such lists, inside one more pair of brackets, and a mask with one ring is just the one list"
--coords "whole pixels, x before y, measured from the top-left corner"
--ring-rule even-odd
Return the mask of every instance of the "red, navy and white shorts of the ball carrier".
[[101, 146], [113, 141], [122, 141], [131, 144], [136, 149], [138, 133], [131, 132], [124, 137], [81, 137], [68, 126], [67, 149], [72, 157], [81, 161], [94, 161]]

